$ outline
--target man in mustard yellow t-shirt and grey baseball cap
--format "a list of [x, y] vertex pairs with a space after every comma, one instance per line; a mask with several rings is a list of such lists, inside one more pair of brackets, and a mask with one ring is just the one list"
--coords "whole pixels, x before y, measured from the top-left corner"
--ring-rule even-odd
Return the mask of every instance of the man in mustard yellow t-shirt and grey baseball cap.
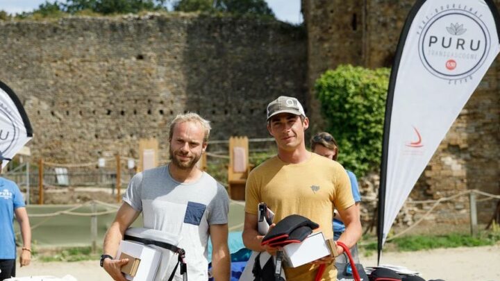
[[[331, 221], [337, 209], [344, 219], [345, 232], [340, 236], [348, 247], [361, 236], [358, 211], [354, 208], [349, 176], [342, 165], [306, 149], [304, 132], [309, 119], [295, 98], [280, 96], [267, 105], [267, 130], [276, 140], [278, 155], [251, 171], [247, 180], [243, 242], [255, 251], [276, 253], [276, 248], [261, 246], [263, 236], [257, 231], [257, 205], [267, 203], [278, 222], [290, 214], [306, 216], [319, 223], [326, 239], [333, 237]], [[342, 247], [337, 246], [339, 253]], [[315, 280], [319, 264], [326, 264], [322, 280], [336, 280], [333, 258], [324, 257], [297, 268], [286, 268], [288, 281]]]

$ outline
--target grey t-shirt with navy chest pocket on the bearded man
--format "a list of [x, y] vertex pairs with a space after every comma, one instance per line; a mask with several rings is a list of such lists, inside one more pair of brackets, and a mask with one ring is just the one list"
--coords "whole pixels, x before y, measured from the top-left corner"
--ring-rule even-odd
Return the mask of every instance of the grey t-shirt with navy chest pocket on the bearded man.
[[[123, 201], [142, 212], [144, 228], [179, 237], [189, 280], [208, 280], [209, 225], [228, 223], [229, 199], [222, 185], [205, 172], [197, 182], [177, 182], [163, 166], [136, 174]], [[175, 280], [182, 280], [178, 271]]]

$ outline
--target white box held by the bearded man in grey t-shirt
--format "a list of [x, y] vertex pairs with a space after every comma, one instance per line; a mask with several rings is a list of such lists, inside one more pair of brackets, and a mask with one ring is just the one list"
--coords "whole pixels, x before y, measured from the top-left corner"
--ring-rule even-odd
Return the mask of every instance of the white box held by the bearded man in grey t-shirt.
[[116, 258], [119, 258], [122, 253], [126, 253], [127, 255], [140, 259], [140, 264], [137, 273], [135, 273], [135, 277], [125, 274], [126, 280], [153, 281], [155, 279], [156, 271], [158, 270], [158, 265], [160, 264], [162, 256], [160, 250], [156, 250], [133, 241], [122, 240], [120, 241]]

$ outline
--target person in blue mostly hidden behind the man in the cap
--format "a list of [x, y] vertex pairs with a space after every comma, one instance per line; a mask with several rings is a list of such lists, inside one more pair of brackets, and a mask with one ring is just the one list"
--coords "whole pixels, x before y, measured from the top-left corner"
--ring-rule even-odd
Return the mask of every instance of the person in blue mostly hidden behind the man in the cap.
[[[311, 150], [319, 155], [327, 157], [331, 160], [337, 161], [338, 157], [338, 145], [333, 138], [332, 135], [322, 132], [317, 133], [310, 139]], [[361, 194], [358, 188], [358, 180], [356, 179], [356, 175], [353, 172], [346, 170], [347, 175], [349, 176], [349, 180], [351, 180], [351, 190], [354, 198], [354, 202], [356, 203], [356, 212], [360, 213], [360, 202], [361, 202]], [[337, 210], [334, 210], [333, 214], [333, 239], [337, 240], [342, 232], [345, 230], [344, 222], [342, 221], [342, 217], [338, 214]], [[358, 247], [355, 245], [351, 248], [351, 255], [356, 263], [359, 263], [358, 257]], [[335, 262], [347, 262], [344, 255], [341, 255], [336, 258]]]

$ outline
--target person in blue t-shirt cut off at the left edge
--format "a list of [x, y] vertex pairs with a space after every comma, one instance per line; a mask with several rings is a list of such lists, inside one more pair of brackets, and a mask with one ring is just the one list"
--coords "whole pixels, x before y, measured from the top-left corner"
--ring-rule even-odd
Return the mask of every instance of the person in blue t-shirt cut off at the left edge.
[[[1, 163], [5, 160], [10, 161], [0, 153], [0, 174]], [[19, 262], [21, 266], [27, 266], [31, 261], [31, 228], [26, 205], [15, 182], [0, 177], [0, 281], [15, 277], [16, 244], [12, 225], [14, 214], [23, 240]]]

